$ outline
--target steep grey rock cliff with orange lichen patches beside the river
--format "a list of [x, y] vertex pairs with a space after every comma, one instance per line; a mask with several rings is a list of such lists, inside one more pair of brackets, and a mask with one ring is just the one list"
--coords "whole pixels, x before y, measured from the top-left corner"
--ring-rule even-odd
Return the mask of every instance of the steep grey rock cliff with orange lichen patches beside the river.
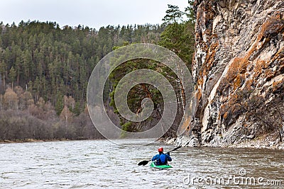
[[189, 127], [185, 125], [188, 132], [178, 142], [188, 136], [192, 146], [261, 137], [281, 142], [284, 2], [197, 0], [195, 10], [192, 76], [197, 103]]

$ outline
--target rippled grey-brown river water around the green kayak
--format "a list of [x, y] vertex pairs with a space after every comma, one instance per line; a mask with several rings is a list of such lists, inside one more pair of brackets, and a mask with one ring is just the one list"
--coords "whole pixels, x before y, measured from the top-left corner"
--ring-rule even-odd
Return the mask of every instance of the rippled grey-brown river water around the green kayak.
[[158, 170], [137, 164], [162, 144], [116, 142], [0, 144], [0, 188], [284, 188], [284, 151], [183, 147]]

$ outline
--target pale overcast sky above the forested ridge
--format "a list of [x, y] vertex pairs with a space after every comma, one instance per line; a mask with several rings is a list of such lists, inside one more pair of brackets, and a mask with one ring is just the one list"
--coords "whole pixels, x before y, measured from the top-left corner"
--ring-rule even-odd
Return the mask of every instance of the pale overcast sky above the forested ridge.
[[187, 0], [1, 0], [0, 22], [53, 21], [63, 27], [163, 23], [168, 4], [184, 11]]

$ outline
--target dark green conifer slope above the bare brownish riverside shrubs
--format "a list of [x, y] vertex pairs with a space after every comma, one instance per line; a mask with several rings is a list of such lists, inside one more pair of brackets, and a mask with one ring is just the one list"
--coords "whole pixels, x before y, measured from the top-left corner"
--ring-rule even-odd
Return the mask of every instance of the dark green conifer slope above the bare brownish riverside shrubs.
[[35, 103], [42, 97], [56, 105], [67, 95], [84, 108], [89, 75], [99, 59], [126, 41], [155, 42], [162, 31], [160, 25], [107, 26], [97, 31], [80, 25], [60, 28], [51, 22], [1, 24], [0, 92], [7, 85], [22, 86]]

